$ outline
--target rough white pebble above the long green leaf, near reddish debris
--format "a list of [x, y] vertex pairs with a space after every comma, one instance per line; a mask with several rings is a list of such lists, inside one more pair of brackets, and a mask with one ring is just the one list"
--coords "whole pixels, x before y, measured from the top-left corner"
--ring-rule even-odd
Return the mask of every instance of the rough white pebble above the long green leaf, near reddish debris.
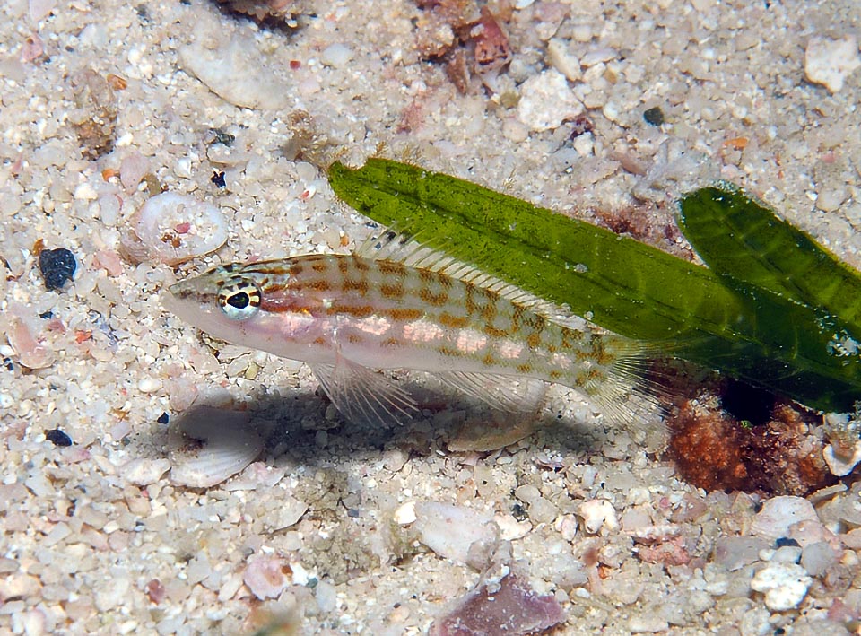
[[568, 86], [565, 75], [548, 69], [520, 86], [517, 119], [535, 132], [553, 130], [583, 112], [583, 104]]

